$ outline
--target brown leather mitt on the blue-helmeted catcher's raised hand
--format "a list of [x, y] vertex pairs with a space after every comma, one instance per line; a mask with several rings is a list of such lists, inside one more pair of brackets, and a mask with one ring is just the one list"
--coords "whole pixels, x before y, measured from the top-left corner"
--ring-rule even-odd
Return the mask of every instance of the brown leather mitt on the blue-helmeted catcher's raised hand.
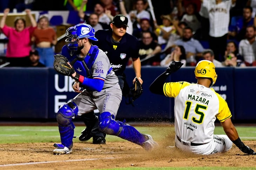
[[53, 66], [58, 73], [64, 76], [71, 76], [75, 72], [74, 68], [68, 65], [68, 59], [61, 54], [54, 55]]

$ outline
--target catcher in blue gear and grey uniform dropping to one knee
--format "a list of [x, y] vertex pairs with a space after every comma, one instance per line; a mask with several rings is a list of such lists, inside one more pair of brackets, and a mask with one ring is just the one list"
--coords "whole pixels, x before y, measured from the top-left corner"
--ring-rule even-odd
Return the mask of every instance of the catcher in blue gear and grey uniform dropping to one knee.
[[141, 134], [125, 122], [115, 120], [122, 91], [108, 57], [92, 45], [92, 41], [97, 41], [94, 34], [94, 29], [85, 23], [68, 28], [65, 34], [67, 45], [62, 47], [62, 55], [54, 56], [54, 69], [75, 80], [73, 88], [76, 92], [79, 92], [80, 87], [85, 90], [60, 106], [57, 122], [61, 144], [54, 144], [57, 148], [53, 153], [72, 153], [75, 128], [72, 119], [94, 109], [100, 111], [98, 127], [101, 132], [119, 136], [150, 150], [157, 145], [150, 135]]

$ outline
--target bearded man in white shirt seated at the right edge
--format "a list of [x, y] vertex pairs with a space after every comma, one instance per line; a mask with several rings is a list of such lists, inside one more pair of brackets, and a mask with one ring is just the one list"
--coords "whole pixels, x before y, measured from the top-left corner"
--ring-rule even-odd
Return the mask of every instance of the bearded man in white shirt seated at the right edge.
[[247, 66], [255, 66], [255, 55], [256, 55], [256, 28], [255, 26], [248, 26], [246, 28], [245, 39], [241, 40], [239, 47], [239, 54], [244, 58], [244, 63]]

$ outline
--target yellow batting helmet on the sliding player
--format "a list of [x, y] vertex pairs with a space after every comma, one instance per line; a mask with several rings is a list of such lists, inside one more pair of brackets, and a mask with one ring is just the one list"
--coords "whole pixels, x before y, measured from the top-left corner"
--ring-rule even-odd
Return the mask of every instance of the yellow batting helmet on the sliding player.
[[217, 75], [215, 72], [215, 65], [213, 62], [208, 60], [202, 60], [197, 63], [195, 68], [195, 75], [197, 77], [205, 77], [205, 78], [211, 78], [211, 85], [213, 86], [216, 82]]

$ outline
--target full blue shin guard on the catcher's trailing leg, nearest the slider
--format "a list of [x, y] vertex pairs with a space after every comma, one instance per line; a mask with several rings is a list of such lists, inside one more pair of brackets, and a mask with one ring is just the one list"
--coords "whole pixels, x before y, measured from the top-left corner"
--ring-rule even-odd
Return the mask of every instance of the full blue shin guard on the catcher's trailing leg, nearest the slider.
[[142, 145], [147, 139], [134, 127], [125, 122], [116, 121], [113, 114], [103, 112], [99, 116], [99, 129], [108, 134], [115, 135], [127, 141]]

